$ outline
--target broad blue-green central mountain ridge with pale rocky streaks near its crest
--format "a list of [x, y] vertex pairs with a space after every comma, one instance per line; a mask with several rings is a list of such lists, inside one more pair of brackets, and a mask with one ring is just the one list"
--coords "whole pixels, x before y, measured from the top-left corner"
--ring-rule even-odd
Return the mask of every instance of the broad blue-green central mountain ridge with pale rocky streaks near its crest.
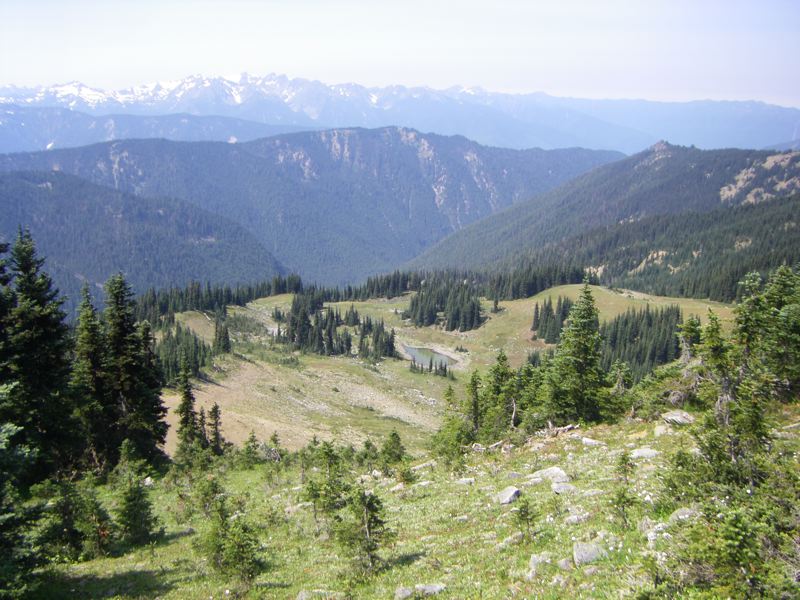
[[304, 279], [341, 283], [394, 268], [481, 217], [619, 157], [488, 148], [386, 128], [246, 144], [112, 142], [3, 155], [0, 171], [59, 170], [185, 200], [238, 223]]

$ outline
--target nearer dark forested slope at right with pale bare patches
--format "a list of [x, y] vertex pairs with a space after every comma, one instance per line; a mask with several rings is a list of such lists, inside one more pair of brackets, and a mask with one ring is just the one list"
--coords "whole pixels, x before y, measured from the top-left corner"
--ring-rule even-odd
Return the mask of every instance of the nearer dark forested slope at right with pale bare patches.
[[571, 260], [604, 285], [730, 301], [751, 271], [800, 261], [800, 196], [656, 215], [586, 232], [532, 251], [533, 264]]

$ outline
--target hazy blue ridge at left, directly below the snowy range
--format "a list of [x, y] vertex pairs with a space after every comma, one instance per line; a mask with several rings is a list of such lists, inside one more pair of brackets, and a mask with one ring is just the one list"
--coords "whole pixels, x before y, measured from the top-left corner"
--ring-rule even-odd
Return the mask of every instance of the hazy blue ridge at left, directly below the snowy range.
[[218, 116], [93, 116], [67, 108], [0, 106], [2, 153], [72, 148], [138, 138], [245, 142], [303, 129], [297, 125], [267, 125]]

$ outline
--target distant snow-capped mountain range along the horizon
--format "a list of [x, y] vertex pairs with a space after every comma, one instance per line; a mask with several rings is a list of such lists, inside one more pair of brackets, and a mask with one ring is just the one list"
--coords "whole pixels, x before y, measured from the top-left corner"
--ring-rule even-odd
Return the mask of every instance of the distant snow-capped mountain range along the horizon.
[[512, 148], [582, 146], [631, 153], [659, 139], [702, 148], [762, 148], [800, 138], [800, 110], [760, 102], [582, 100], [465, 87], [328, 85], [276, 74], [243, 74], [238, 80], [194, 75], [114, 91], [80, 82], [6, 86], [0, 87], [0, 103], [7, 109], [187, 113], [314, 128], [398, 125]]

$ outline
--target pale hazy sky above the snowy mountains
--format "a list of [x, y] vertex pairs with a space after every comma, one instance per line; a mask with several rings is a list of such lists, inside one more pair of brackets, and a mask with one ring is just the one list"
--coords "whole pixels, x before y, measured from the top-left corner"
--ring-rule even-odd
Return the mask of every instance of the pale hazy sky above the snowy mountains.
[[800, 0], [0, 0], [0, 84], [241, 72], [800, 106]]

